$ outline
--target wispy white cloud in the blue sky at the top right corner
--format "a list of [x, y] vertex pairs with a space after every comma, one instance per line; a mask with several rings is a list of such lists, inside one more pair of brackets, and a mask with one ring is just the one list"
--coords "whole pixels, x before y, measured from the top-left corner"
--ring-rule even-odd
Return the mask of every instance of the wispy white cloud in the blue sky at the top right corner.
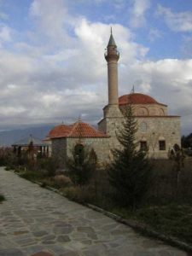
[[164, 17], [166, 25], [175, 32], [192, 32], [192, 12], [173, 13], [172, 9], [158, 5], [157, 15]]

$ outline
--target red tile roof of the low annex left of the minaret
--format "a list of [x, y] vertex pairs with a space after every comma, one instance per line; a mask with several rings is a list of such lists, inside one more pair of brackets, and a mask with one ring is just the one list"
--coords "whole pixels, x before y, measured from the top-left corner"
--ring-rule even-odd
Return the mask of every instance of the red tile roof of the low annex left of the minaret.
[[58, 137], [108, 137], [102, 131], [97, 131], [94, 127], [82, 121], [73, 125], [57, 125], [49, 131], [49, 138]]

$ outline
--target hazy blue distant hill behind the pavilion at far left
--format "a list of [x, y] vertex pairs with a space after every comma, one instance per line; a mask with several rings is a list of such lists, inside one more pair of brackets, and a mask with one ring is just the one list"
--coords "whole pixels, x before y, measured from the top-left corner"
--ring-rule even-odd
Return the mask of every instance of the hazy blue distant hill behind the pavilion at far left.
[[22, 138], [32, 134], [33, 137], [44, 139], [49, 131], [55, 125], [42, 125], [38, 127], [30, 127], [26, 129], [17, 129], [12, 131], [0, 131], [0, 146], [11, 146]]

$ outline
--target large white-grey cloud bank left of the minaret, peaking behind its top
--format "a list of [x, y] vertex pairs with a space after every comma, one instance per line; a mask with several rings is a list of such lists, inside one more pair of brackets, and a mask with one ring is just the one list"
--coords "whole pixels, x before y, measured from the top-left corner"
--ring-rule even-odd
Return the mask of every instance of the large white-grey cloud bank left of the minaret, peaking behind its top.
[[[120, 51], [125, 52], [121, 56], [123, 63], [126, 58], [130, 63], [136, 58], [143, 59], [148, 49], [134, 43], [127, 28], [113, 24], [113, 32]], [[36, 49], [22, 42], [15, 44], [19, 54], [2, 49], [1, 104], [8, 109], [22, 109], [15, 113], [13, 122], [20, 119], [28, 123], [52, 122], [63, 116], [73, 120], [80, 113], [88, 121], [98, 121], [108, 99], [107, 63], [103, 54], [109, 35], [109, 25], [79, 18], [73, 32], [75, 49], [68, 45], [55, 52], [44, 52], [38, 46]], [[9, 113], [6, 114], [9, 120]]]

